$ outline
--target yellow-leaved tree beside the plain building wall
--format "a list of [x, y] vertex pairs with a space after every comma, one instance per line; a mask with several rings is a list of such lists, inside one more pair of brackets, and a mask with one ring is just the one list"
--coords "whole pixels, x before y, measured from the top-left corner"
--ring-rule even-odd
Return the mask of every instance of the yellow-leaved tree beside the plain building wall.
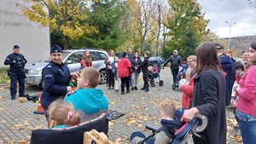
[[85, 20], [86, 0], [23, 0], [29, 7], [20, 5], [23, 14], [31, 21], [49, 26], [50, 32], [57, 32], [65, 39], [64, 49], [68, 49], [69, 38], [77, 40], [84, 32], [96, 32], [94, 26]]

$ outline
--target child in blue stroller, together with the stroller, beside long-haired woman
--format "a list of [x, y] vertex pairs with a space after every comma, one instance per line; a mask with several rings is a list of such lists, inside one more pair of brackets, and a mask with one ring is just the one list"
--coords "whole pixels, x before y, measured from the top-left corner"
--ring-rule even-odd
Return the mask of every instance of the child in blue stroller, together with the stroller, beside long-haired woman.
[[160, 129], [146, 125], [148, 130], [152, 130], [153, 135], [146, 137], [140, 131], [131, 134], [131, 144], [185, 144], [189, 139], [189, 135], [195, 135], [205, 138], [197, 134], [207, 127], [208, 119], [206, 116], [197, 114], [190, 122], [183, 122], [183, 111], [175, 110], [172, 103], [167, 103], [161, 110]]

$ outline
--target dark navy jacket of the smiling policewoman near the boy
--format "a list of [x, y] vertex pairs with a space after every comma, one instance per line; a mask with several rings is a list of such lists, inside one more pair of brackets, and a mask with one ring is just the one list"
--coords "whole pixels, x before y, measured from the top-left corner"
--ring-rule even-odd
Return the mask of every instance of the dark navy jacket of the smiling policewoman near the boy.
[[67, 86], [72, 76], [65, 64], [61, 63], [61, 65], [58, 65], [50, 61], [43, 68], [42, 78], [44, 80], [44, 91], [41, 103], [45, 108], [58, 97], [64, 97], [67, 94]]

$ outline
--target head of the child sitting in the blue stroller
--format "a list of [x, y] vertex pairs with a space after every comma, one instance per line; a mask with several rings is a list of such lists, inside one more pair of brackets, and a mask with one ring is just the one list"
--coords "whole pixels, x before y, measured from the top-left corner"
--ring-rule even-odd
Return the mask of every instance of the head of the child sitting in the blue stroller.
[[161, 118], [164, 119], [174, 119], [174, 111], [175, 111], [175, 106], [169, 102], [167, 103], [160, 112]]

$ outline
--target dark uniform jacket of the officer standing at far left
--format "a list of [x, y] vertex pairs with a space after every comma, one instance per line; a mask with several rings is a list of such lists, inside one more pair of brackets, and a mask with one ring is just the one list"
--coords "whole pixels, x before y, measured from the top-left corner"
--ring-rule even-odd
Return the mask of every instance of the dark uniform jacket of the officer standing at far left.
[[23, 69], [26, 64], [24, 55], [21, 54], [10, 54], [4, 60], [4, 65], [9, 65], [11, 71]]

